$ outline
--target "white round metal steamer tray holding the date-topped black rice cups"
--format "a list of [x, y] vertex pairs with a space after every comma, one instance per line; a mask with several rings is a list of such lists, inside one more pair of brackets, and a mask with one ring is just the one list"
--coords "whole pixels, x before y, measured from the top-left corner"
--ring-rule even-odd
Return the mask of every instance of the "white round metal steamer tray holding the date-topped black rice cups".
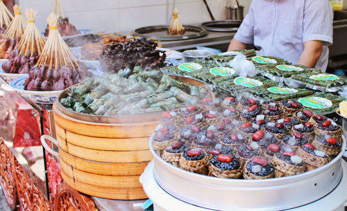
[[[342, 178], [339, 155], [323, 167], [296, 176], [264, 180], [216, 178], [185, 171], [155, 153], [153, 135], [149, 147], [154, 155], [153, 176], [171, 196], [212, 210], [286, 210], [323, 198]], [[341, 149], [346, 148], [343, 137]]]

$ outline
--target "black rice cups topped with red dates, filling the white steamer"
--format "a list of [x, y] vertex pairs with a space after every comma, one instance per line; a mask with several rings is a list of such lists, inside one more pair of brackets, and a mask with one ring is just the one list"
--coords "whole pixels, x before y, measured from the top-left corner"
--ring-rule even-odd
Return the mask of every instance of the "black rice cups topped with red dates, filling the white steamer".
[[176, 167], [219, 178], [278, 178], [321, 167], [341, 151], [341, 126], [298, 101], [205, 101], [190, 105], [197, 112], [181, 108], [177, 121], [154, 132], [153, 149]]

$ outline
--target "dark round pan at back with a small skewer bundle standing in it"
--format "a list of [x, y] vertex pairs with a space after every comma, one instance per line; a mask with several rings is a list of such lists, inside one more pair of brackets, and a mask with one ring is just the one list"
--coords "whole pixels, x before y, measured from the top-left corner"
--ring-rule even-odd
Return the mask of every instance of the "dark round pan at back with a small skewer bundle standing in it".
[[174, 41], [174, 40], [189, 40], [198, 37], [203, 37], [207, 34], [205, 28], [200, 26], [184, 25], [184, 35], [168, 35], [167, 30], [169, 25], [146, 26], [135, 29], [135, 36], [153, 38], [153, 40]]

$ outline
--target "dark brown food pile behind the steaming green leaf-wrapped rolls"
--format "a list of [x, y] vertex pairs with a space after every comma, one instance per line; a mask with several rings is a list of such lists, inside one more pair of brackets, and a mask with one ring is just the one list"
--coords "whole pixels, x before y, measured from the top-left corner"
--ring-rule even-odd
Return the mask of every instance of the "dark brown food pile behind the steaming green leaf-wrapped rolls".
[[140, 66], [144, 70], [160, 69], [165, 66], [165, 53], [155, 50], [158, 44], [146, 38], [135, 38], [126, 42], [103, 46], [100, 63], [103, 71], [117, 73], [126, 67]]

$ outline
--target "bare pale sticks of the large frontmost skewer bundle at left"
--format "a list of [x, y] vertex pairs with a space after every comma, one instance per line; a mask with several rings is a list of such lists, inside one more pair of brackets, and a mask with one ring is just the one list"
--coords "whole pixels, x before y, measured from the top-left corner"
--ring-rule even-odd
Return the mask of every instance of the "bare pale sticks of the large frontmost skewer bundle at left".
[[60, 36], [58, 31], [58, 18], [58, 15], [54, 12], [47, 18], [49, 35], [40, 59], [37, 62], [37, 66], [49, 65], [49, 69], [51, 69], [53, 65], [56, 69], [62, 66], [71, 67], [71, 69], [79, 68], [76, 58]]

